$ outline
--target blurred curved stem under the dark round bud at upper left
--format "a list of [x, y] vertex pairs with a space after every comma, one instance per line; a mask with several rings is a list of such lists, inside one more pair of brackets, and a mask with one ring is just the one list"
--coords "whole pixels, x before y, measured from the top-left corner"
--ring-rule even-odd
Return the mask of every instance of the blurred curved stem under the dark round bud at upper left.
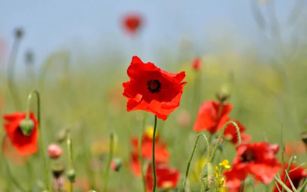
[[18, 53], [19, 42], [20, 38], [16, 37], [10, 53], [8, 68], [7, 68], [8, 88], [12, 95], [16, 111], [19, 111], [21, 109], [20, 97], [18, 95], [16, 83], [14, 82], [15, 59]]

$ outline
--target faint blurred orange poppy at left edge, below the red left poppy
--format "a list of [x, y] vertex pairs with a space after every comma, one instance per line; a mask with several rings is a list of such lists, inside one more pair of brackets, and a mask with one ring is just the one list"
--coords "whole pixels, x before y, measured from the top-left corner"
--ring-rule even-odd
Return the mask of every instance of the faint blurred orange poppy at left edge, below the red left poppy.
[[20, 155], [16, 148], [12, 145], [8, 136], [5, 136], [2, 140], [2, 155], [10, 159], [15, 165], [24, 165], [29, 159], [30, 155]]

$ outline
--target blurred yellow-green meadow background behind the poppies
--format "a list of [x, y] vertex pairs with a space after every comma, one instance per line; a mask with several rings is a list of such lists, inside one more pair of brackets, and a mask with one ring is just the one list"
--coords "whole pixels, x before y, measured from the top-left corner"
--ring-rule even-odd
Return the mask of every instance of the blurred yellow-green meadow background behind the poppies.
[[[193, 132], [192, 126], [199, 105], [205, 100], [215, 99], [215, 93], [225, 87], [231, 94], [228, 102], [233, 104], [231, 118], [246, 126], [252, 141], [267, 138], [271, 143], [280, 143], [282, 129], [285, 141], [299, 141], [301, 132], [307, 129], [307, 28], [303, 23], [307, 17], [304, 9], [300, 10], [299, 15], [290, 13], [289, 18], [293, 17], [294, 21], [288, 27], [284, 25], [287, 30], [283, 30], [279, 20], [270, 14], [271, 4], [269, 1], [268, 5], [264, 5], [269, 10], [268, 14], [259, 12], [266, 7], [260, 9], [258, 4], [251, 4], [254, 6], [250, 13], [256, 21], [253, 25], [260, 34], [259, 42], [248, 42], [245, 46], [238, 46], [238, 42], [244, 42], [245, 39], [229, 31], [226, 35], [208, 37], [213, 51], [196, 51], [195, 47], [199, 45], [189, 41], [189, 38], [179, 41], [172, 50], [157, 46], [152, 53], [155, 61], [146, 59], [148, 56], [142, 58], [145, 52], [145, 49], [140, 48], [142, 38], [136, 38], [131, 40], [131, 46], [127, 49], [127, 52], [133, 50], [133, 54], [126, 54], [119, 45], [105, 44], [101, 47], [109, 46], [110, 49], [104, 53], [72, 54], [70, 49], [58, 49], [48, 52], [39, 66], [18, 62], [14, 78], [24, 109], [32, 89], [38, 89], [41, 94], [41, 127], [46, 139], [45, 147], [55, 142], [63, 129], [70, 127], [72, 130], [74, 165], [79, 183], [76, 191], [86, 190], [88, 169], [95, 162], [98, 171], [91, 169], [90, 175], [94, 177], [97, 187], [102, 187], [111, 132], [117, 135], [116, 156], [123, 158], [125, 166], [119, 173], [110, 172], [108, 191], [141, 191], [141, 181], [133, 177], [128, 162], [130, 138], [139, 136], [144, 112], [127, 113], [126, 98], [122, 96], [122, 83], [128, 80], [127, 66], [131, 57], [140, 52], [144, 62], [155, 62], [158, 67], [169, 72], [186, 72], [185, 81], [188, 84], [180, 107], [166, 121], [158, 120], [158, 132], [167, 142], [171, 154], [169, 164], [178, 167], [181, 173], [185, 172], [197, 134]], [[27, 33], [27, 28], [25, 31]], [[262, 43], [263, 49], [269, 50], [265, 51], [268, 55], [258, 46]], [[25, 54], [21, 50], [18, 56], [24, 57]], [[197, 90], [200, 97], [198, 106], [193, 104], [195, 73], [191, 66], [196, 56], [202, 59], [201, 87]], [[7, 87], [6, 66], [0, 69], [0, 112], [11, 113], [14, 107]], [[31, 108], [36, 110], [34, 101]], [[153, 115], [147, 116], [146, 125], [153, 125]], [[0, 133], [2, 136], [5, 134], [3, 129]], [[204, 145], [203, 141], [199, 144], [200, 147]], [[60, 161], [67, 167], [67, 146], [61, 146], [64, 153]], [[227, 145], [225, 154], [231, 162], [235, 155], [234, 146]], [[297, 164], [305, 162], [305, 156], [298, 155]], [[43, 178], [40, 154], [33, 155], [29, 162], [34, 170], [33, 190], [39, 191]], [[18, 166], [12, 161], [9, 164], [14, 176], [27, 187], [27, 166]], [[9, 183], [4, 166], [1, 166], [0, 173], [0, 191], [5, 191]], [[191, 183], [191, 186], [197, 187], [199, 184]], [[16, 191], [14, 187], [12, 191]]]

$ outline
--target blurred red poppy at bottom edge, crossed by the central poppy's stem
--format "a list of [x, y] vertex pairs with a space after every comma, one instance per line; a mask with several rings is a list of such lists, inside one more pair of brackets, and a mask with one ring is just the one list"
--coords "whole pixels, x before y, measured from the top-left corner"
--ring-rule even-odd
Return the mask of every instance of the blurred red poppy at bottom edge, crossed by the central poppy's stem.
[[[180, 172], [177, 168], [167, 167], [163, 164], [156, 165], [157, 187], [160, 189], [173, 189], [177, 186]], [[151, 191], [153, 187], [152, 165], [149, 164], [146, 172], [146, 190]]]

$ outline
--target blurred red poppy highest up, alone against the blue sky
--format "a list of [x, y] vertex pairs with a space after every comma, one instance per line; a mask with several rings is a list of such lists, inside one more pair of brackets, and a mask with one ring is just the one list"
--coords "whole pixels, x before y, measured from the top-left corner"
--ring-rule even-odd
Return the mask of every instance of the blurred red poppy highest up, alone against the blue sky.
[[129, 13], [123, 19], [124, 30], [130, 35], [136, 35], [144, 23], [144, 17], [141, 14]]

